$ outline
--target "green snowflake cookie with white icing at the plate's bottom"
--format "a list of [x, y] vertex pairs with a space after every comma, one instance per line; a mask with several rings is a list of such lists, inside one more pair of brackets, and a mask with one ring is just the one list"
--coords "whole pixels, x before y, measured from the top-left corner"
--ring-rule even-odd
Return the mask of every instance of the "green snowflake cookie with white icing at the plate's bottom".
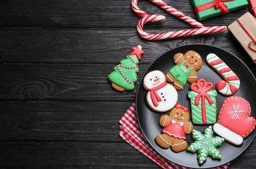
[[193, 129], [192, 137], [195, 140], [189, 147], [188, 151], [195, 153], [197, 151], [197, 159], [199, 164], [203, 164], [208, 156], [213, 159], [220, 159], [220, 150], [216, 147], [220, 146], [225, 140], [222, 137], [212, 136], [212, 126], [205, 129], [205, 134], [203, 135], [200, 131]]

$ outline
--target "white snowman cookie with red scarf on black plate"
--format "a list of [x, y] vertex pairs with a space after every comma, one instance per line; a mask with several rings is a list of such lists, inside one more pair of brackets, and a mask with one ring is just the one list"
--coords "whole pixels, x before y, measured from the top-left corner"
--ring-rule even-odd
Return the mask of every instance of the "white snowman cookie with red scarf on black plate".
[[147, 73], [143, 86], [149, 90], [146, 95], [147, 103], [156, 112], [166, 112], [175, 107], [178, 93], [173, 85], [166, 82], [166, 77], [160, 70]]

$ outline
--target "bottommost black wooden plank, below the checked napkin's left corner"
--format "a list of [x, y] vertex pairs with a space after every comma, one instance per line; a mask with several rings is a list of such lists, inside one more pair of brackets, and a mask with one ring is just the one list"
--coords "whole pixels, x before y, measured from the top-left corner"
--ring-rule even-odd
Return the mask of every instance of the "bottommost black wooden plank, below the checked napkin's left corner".
[[0, 145], [0, 167], [158, 168], [125, 142], [0, 142]]

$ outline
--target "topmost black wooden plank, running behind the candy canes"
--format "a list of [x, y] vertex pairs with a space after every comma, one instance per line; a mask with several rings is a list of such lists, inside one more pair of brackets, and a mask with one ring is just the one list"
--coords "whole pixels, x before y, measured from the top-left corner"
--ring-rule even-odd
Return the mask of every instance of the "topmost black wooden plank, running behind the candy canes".
[[[167, 3], [196, 19], [190, 1], [167, 1]], [[165, 24], [164, 28], [170, 28], [170, 25], [171, 29], [182, 28], [184, 25], [188, 27], [188, 24], [149, 1], [139, 1], [138, 5], [141, 10], [149, 14], [166, 16], [166, 21], [162, 22]], [[206, 26], [229, 25], [247, 10], [233, 12], [229, 17], [212, 18], [211, 25], [208, 20], [202, 23]], [[130, 0], [0, 1], [0, 15], [0, 27], [134, 28], [140, 19], [132, 11]], [[155, 27], [159, 27], [162, 23], [156, 23]]]

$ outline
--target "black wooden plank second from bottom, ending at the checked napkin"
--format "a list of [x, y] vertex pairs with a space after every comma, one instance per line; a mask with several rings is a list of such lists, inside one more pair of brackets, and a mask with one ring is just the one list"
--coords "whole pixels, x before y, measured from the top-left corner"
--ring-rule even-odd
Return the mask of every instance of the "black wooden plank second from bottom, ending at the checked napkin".
[[1, 141], [122, 142], [119, 120], [132, 102], [0, 101]]

